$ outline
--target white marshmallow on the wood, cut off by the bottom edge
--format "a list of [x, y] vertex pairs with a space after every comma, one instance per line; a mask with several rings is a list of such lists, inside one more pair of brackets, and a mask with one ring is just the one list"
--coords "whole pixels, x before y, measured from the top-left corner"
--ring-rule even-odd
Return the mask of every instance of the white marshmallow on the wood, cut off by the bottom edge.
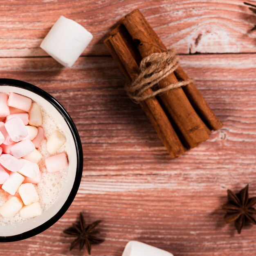
[[124, 248], [122, 256], [173, 256], [173, 254], [138, 241], [130, 241]]

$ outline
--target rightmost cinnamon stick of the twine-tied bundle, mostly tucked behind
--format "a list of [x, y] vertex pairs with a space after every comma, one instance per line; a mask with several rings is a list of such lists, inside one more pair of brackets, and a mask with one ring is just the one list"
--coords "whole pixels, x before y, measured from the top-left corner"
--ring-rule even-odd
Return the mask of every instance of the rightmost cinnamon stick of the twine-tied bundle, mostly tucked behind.
[[[136, 12], [139, 12], [139, 10], [137, 9]], [[141, 14], [140, 17], [143, 18], [143, 21], [146, 24], [148, 31], [150, 33], [150, 37], [155, 40], [157, 45], [160, 47], [161, 51], [165, 52], [167, 48], [164, 45], [164, 43], [160, 40], [159, 36], [157, 36], [155, 30], [149, 25], [148, 21], [143, 16], [143, 14]], [[186, 72], [182, 69], [181, 66], [179, 66], [174, 71], [174, 74], [178, 80], [185, 81], [189, 79], [189, 76], [186, 74]], [[207, 124], [207, 126], [211, 130], [220, 129], [222, 127], [221, 121], [213, 113], [213, 111], [205, 101], [204, 97], [202, 97], [202, 94], [195, 86], [195, 84], [190, 83], [189, 85], [183, 86], [182, 89], [185, 92], [186, 97], [189, 99], [191, 105], [194, 107], [194, 109], [196, 110], [198, 115], [203, 119], [203, 121]]]

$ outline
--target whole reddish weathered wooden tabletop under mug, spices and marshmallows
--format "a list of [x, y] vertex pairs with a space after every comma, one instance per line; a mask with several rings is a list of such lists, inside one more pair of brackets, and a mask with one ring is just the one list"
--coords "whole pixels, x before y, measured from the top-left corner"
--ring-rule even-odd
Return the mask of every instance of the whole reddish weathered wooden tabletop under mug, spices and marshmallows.
[[[103, 38], [139, 8], [180, 61], [224, 127], [170, 159]], [[64, 15], [94, 34], [68, 69], [39, 48]], [[102, 219], [106, 241], [94, 256], [121, 256], [129, 240], [175, 256], [255, 256], [256, 227], [236, 234], [225, 225], [227, 189], [256, 195], [256, 16], [242, 0], [0, 0], [0, 77], [33, 83], [60, 101], [83, 142], [81, 186], [65, 215], [45, 232], [0, 245], [1, 256], [87, 255], [63, 229], [79, 211]], [[144, 255], [143, 255], [144, 256]]]

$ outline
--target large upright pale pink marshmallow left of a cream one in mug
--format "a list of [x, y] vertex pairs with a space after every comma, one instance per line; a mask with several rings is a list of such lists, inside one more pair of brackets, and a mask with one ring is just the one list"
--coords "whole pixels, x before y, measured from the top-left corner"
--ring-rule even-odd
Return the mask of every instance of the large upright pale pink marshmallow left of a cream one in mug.
[[13, 117], [5, 123], [5, 128], [11, 139], [15, 142], [25, 139], [28, 135], [27, 128], [19, 117]]

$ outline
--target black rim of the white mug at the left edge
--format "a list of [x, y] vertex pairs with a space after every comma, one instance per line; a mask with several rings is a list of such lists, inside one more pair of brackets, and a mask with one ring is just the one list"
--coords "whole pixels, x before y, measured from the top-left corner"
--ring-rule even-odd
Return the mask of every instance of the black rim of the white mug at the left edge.
[[49, 220], [44, 222], [42, 225], [35, 227], [34, 229], [31, 229], [22, 234], [18, 234], [18, 235], [14, 235], [14, 236], [0, 236], [0, 243], [1, 242], [15, 242], [15, 241], [27, 239], [32, 236], [36, 236], [36, 235], [40, 234], [41, 232], [45, 231], [46, 229], [48, 229], [49, 227], [54, 225], [54, 223], [56, 223], [64, 215], [64, 213], [67, 211], [67, 209], [72, 204], [72, 202], [76, 196], [76, 193], [79, 189], [79, 185], [80, 185], [82, 173], [83, 173], [83, 148], [82, 148], [81, 139], [80, 139], [78, 130], [76, 129], [76, 126], [74, 124], [74, 121], [72, 120], [70, 115], [67, 113], [65, 108], [61, 105], [61, 103], [59, 103], [49, 93], [38, 88], [37, 86], [32, 85], [31, 83], [27, 83], [25, 81], [20, 81], [20, 80], [16, 80], [16, 79], [0, 78], [0, 86], [3, 86], [3, 85], [18, 87], [18, 88], [22, 88], [22, 89], [34, 92], [35, 94], [38, 94], [39, 96], [41, 96], [44, 99], [46, 99], [47, 101], [49, 101], [49, 103], [51, 103], [56, 108], [56, 110], [58, 110], [58, 112], [62, 115], [63, 119], [67, 123], [67, 126], [70, 128], [70, 132], [72, 133], [75, 147], [76, 147], [77, 165], [76, 165], [76, 176], [75, 176], [74, 184], [70, 191], [70, 195], [68, 196], [67, 200], [65, 201], [65, 203], [63, 204], [61, 209], [52, 218], [50, 218]]

